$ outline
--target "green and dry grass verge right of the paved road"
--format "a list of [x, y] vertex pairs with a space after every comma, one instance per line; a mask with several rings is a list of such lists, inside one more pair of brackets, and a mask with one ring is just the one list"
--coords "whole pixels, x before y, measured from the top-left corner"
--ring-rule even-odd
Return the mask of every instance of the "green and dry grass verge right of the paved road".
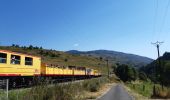
[[137, 82], [126, 83], [125, 87], [129, 93], [131, 93], [136, 100], [148, 100], [148, 99], [170, 99], [170, 88], [164, 87], [162, 90], [159, 84], [154, 85], [151, 82]]

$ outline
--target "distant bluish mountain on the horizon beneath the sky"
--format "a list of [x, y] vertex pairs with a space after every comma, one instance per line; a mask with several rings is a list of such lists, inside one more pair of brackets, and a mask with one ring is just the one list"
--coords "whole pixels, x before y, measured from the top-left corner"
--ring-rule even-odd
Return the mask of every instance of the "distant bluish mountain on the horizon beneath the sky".
[[99, 57], [101, 59], [109, 59], [109, 61], [113, 64], [114, 63], [130, 64], [136, 68], [145, 66], [153, 61], [153, 59], [151, 58], [109, 50], [94, 50], [94, 51], [70, 50], [67, 51], [66, 53], [82, 56], [94, 56]]

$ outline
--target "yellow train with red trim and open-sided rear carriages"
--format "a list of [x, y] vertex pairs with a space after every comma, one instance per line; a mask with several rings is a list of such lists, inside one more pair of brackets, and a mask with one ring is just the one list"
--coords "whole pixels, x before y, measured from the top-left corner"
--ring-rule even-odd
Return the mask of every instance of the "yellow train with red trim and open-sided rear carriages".
[[35, 77], [71, 79], [99, 76], [101, 74], [97, 70], [85, 67], [45, 64], [41, 62], [41, 57], [0, 50], [0, 80], [9, 79], [12, 87], [22, 84], [30, 85]]

